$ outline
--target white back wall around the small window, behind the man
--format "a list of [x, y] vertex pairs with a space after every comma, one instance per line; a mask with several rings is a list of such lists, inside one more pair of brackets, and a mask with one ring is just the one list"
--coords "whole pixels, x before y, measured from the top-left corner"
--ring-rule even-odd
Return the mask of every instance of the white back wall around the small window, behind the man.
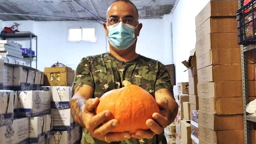
[[[173, 63], [170, 47], [170, 27], [163, 24], [163, 19], [140, 19], [143, 24], [138, 37], [136, 51], [146, 57], [161, 61], [163, 64]], [[59, 61], [75, 69], [81, 58], [101, 54], [109, 50], [105, 30], [102, 24], [92, 21], [4, 21], [5, 26], [13, 22], [21, 23], [20, 31], [31, 31], [38, 36], [38, 69], [44, 70]], [[169, 21], [170, 22], [170, 21]], [[1, 25], [0, 25], [1, 26]], [[95, 28], [97, 42], [68, 42], [69, 27]], [[168, 27], [166, 31], [164, 27]], [[168, 35], [168, 36], [166, 36]], [[16, 39], [19, 40], [19, 39]], [[29, 41], [18, 41], [23, 47], [29, 47]], [[35, 49], [35, 41], [32, 48]], [[33, 65], [35, 67], [35, 63]]]

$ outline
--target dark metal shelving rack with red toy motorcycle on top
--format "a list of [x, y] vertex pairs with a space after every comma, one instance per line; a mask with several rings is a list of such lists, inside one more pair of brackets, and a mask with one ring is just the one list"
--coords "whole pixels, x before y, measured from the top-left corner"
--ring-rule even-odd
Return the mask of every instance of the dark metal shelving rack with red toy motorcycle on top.
[[[6, 40], [6, 38], [29, 38], [30, 40], [30, 54], [29, 55], [25, 55], [23, 56], [24, 58], [29, 58], [29, 65], [30, 67], [32, 67], [32, 61], [33, 58], [36, 59], [35, 61], [35, 68], [37, 69], [37, 36], [31, 32], [27, 32], [27, 33], [12, 33], [12, 34], [0, 34], [0, 37], [2, 37], [4, 40]], [[32, 39], [35, 38], [35, 42], [36, 42], [36, 46], [35, 46], [35, 56], [32, 56]]]

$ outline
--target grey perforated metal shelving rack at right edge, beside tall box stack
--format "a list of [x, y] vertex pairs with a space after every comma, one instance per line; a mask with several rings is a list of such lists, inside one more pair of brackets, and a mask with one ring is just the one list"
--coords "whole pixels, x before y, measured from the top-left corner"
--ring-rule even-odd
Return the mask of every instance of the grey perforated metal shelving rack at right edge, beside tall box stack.
[[[238, 0], [238, 8], [241, 8], [242, 0]], [[256, 117], [246, 113], [246, 105], [249, 102], [248, 96], [248, 72], [246, 53], [256, 50], [256, 45], [241, 45], [241, 64], [242, 64], [242, 86], [243, 86], [243, 122], [244, 122], [244, 143], [250, 144], [250, 125], [249, 122], [256, 122]]]

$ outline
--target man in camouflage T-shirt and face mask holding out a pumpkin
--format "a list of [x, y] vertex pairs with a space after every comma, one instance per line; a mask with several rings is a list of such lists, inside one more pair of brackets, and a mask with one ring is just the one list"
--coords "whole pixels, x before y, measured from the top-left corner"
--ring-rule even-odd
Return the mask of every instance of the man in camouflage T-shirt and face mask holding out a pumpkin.
[[[167, 143], [163, 129], [174, 121], [178, 106], [165, 66], [135, 52], [142, 28], [136, 6], [129, 0], [114, 1], [107, 10], [107, 20], [103, 25], [110, 52], [81, 60], [70, 101], [74, 121], [84, 127], [81, 143]], [[109, 90], [121, 88], [123, 80], [142, 87], [157, 100], [160, 113], [154, 113], [152, 119], [146, 121], [149, 130], [137, 130], [134, 134], [111, 133], [118, 120], [105, 122], [111, 115], [110, 111], [95, 114], [99, 97]]]

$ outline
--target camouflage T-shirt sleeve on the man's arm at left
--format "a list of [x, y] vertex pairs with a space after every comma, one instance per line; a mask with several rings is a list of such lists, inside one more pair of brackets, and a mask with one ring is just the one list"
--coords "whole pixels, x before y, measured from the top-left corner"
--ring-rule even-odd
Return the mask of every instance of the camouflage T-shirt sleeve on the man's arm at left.
[[77, 66], [72, 92], [74, 93], [75, 88], [82, 84], [87, 84], [94, 88], [93, 76], [88, 64], [88, 58], [82, 58]]

